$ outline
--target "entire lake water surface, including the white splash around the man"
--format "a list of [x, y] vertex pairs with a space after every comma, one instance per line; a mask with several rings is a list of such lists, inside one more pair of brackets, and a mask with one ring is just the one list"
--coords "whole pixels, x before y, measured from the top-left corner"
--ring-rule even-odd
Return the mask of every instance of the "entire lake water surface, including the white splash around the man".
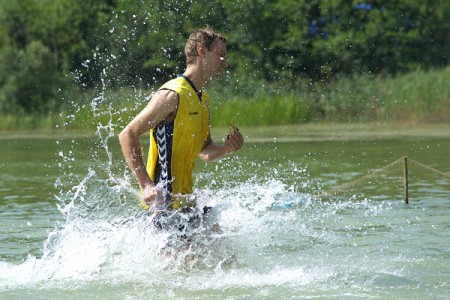
[[[247, 143], [199, 163], [214, 208], [156, 231], [117, 140], [0, 139], [1, 299], [447, 299], [450, 139]], [[215, 230], [218, 223], [221, 230]]]

